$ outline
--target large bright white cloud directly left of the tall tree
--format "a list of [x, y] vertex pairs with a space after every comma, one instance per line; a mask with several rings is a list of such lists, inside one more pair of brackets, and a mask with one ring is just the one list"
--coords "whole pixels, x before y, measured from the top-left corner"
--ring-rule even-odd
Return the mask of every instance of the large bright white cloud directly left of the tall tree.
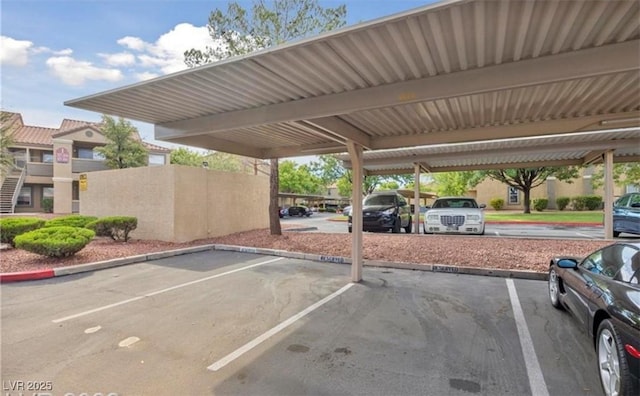
[[167, 74], [187, 68], [184, 64], [185, 51], [191, 48], [204, 50], [212, 41], [206, 26], [181, 23], [160, 36], [155, 43], [127, 36], [118, 40], [118, 44], [141, 52], [138, 55], [141, 66]]

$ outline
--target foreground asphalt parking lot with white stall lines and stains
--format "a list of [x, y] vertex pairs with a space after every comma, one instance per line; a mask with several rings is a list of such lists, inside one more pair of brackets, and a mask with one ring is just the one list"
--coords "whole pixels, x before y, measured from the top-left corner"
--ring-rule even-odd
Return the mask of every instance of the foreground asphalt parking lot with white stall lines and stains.
[[601, 394], [591, 344], [545, 282], [368, 267], [363, 278], [208, 251], [5, 284], [3, 392]]

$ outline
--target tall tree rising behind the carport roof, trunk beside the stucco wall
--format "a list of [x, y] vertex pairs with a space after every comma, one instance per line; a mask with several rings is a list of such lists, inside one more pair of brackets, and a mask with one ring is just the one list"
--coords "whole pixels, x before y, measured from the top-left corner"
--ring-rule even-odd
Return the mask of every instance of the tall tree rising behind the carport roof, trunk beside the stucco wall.
[[[229, 3], [227, 12], [213, 10], [209, 15], [209, 34], [213, 45], [205, 51], [184, 53], [189, 67], [204, 65], [231, 56], [243, 55], [273, 45], [304, 38], [344, 26], [347, 8], [323, 8], [318, 0], [254, 0], [251, 12], [238, 3]], [[272, 158], [269, 188], [269, 228], [281, 235], [278, 209], [278, 159]]]

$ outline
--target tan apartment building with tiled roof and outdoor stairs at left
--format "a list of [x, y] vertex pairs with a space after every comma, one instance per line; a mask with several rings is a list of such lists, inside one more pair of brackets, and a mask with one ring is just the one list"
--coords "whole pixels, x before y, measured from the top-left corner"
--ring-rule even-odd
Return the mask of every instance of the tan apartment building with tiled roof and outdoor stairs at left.
[[[12, 131], [14, 168], [2, 176], [0, 213], [43, 212], [53, 198], [54, 213], [78, 213], [86, 172], [108, 169], [96, 147], [107, 143], [99, 123], [64, 119], [60, 128], [25, 125], [19, 113], [5, 113]], [[170, 162], [171, 150], [146, 143], [148, 165]]]

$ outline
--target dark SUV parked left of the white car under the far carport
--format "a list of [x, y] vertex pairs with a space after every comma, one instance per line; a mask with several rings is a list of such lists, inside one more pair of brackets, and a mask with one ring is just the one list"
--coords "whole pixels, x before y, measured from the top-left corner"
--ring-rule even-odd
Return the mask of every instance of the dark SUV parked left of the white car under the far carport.
[[[352, 231], [352, 217], [349, 215], [349, 232]], [[406, 199], [395, 191], [373, 192], [362, 203], [362, 230], [411, 233], [411, 212]]]

